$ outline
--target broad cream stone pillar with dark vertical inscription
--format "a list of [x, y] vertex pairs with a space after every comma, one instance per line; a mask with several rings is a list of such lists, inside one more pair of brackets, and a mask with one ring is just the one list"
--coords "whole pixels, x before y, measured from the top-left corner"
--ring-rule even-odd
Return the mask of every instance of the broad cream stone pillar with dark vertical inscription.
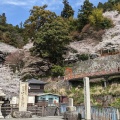
[[27, 111], [28, 82], [20, 82], [19, 111]]

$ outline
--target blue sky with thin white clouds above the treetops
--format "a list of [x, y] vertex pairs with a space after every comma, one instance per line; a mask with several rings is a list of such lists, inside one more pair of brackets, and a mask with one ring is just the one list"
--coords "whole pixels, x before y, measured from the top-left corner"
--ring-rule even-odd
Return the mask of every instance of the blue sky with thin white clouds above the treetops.
[[[50, 11], [55, 12], [60, 15], [63, 10], [63, 0], [0, 0], [0, 15], [2, 13], [6, 14], [7, 23], [19, 25], [20, 22], [27, 20], [30, 16], [30, 9], [33, 6], [42, 6], [44, 4], [48, 5]], [[99, 2], [106, 2], [108, 0], [89, 0], [94, 5]], [[75, 16], [78, 14], [78, 9], [83, 4], [84, 0], [68, 0], [69, 4], [75, 11]]]

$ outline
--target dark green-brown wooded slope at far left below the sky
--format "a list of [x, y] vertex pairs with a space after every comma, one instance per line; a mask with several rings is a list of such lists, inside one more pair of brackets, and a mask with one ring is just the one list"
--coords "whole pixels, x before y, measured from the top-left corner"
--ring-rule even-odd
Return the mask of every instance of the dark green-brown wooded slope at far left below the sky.
[[5, 13], [0, 15], [0, 41], [21, 48], [25, 44], [22, 37], [23, 31], [21, 31], [23, 29], [7, 24], [6, 20]]

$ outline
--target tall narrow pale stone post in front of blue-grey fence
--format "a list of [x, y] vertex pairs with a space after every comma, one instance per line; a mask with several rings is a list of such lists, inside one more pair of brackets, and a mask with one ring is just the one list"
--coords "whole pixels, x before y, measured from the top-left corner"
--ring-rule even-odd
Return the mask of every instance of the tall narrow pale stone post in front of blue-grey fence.
[[89, 78], [84, 80], [84, 104], [85, 104], [85, 120], [91, 120], [91, 106], [90, 106], [90, 83]]

